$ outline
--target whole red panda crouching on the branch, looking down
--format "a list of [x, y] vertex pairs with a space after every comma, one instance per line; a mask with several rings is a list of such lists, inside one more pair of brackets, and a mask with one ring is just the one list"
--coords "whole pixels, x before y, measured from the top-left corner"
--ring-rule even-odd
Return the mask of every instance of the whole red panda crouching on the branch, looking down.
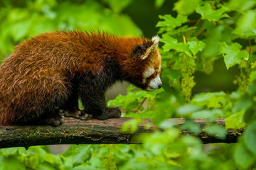
[[146, 91], [161, 88], [158, 43], [157, 36], [149, 40], [79, 31], [26, 40], [0, 68], [0, 125], [58, 126], [63, 114], [83, 120], [119, 118], [119, 108], [107, 108], [105, 91], [116, 81]]

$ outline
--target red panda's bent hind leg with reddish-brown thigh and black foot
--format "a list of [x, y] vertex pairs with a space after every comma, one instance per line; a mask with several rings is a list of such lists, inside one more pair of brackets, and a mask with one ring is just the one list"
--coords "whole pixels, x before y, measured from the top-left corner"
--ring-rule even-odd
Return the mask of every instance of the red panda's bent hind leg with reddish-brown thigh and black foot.
[[[6, 106], [9, 108], [9, 113], [13, 112], [11, 115], [14, 115], [11, 120], [12, 125], [63, 124], [63, 114], [56, 107], [63, 106], [68, 101], [72, 84], [57, 71], [50, 71], [52, 70], [46, 69], [45, 72], [36, 72], [35, 75], [38, 77], [36, 83], [33, 79], [26, 79], [24, 81], [26, 83], [18, 81], [23, 87], [20, 91], [21, 95], [14, 98], [13, 106], [11, 104]], [[19, 102], [20, 100], [22, 103]]]

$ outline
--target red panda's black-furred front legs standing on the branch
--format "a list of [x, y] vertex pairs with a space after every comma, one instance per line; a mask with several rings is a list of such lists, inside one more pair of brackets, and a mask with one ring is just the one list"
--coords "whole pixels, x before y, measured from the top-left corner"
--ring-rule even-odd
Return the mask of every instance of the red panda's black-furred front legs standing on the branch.
[[[119, 108], [107, 108], [105, 101], [105, 91], [112, 86], [117, 79], [120, 79], [118, 63], [110, 61], [105, 65], [105, 71], [98, 75], [91, 73], [79, 74], [73, 78], [73, 94], [66, 103], [65, 116], [71, 116], [87, 120], [96, 118], [105, 120], [108, 118], [119, 118], [121, 111]], [[82, 100], [85, 109], [79, 111], [78, 96]]]

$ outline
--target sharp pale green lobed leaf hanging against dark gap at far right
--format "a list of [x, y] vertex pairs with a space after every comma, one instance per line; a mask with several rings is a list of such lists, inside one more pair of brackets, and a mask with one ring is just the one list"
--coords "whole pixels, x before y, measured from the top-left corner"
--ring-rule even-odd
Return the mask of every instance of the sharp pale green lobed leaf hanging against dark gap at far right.
[[227, 45], [225, 42], [223, 42], [222, 52], [224, 54], [224, 62], [227, 69], [233, 67], [235, 64], [240, 64], [242, 62], [242, 58], [245, 60], [248, 59], [248, 52], [240, 51], [241, 48], [242, 45], [240, 45], [238, 42], [235, 42], [232, 45]]

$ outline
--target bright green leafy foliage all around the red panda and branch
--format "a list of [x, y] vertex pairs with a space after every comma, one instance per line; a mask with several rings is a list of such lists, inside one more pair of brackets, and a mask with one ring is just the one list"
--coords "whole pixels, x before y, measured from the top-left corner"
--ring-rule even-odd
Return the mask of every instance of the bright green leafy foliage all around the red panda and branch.
[[[13, 45], [24, 38], [48, 30], [102, 28], [117, 35], [142, 34], [122, 13], [132, 1], [100, 2], [38, 0], [13, 8], [12, 1], [4, 1], [0, 11], [1, 57], [8, 56]], [[164, 3], [155, 1], [157, 8]], [[255, 169], [255, 6], [252, 0], [178, 0], [174, 12], [159, 16], [156, 27], [161, 37], [163, 88], [146, 92], [129, 86], [127, 96], [108, 103], [122, 106], [123, 116], [135, 118], [124, 124], [123, 131], [135, 132], [142, 123], [137, 118], [153, 118], [161, 131], [142, 135], [142, 145], [74, 145], [59, 155], [50, 154], [45, 147], [1, 149], [0, 169]], [[91, 17], [82, 17], [88, 15]], [[208, 79], [203, 81], [210, 81], [218, 61], [228, 70], [238, 69], [233, 79], [238, 89], [193, 91], [201, 83], [196, 81], [197, 73], [206, 74]], [[216, 85], [218, 81], [223, 82], [216, 79]], [[214, 124], [217, 118], [226, 118], [226, 128], [247, 130], [236, 144], [202, 145], [198, 137], [181, 134], [181, 130], [200, 134], [196, 123], [187, 119], [177, 128], [167, 118], [206, 118], [213, 125], [203, 132], [220, 139], [225, 138], [225, 129]]]

